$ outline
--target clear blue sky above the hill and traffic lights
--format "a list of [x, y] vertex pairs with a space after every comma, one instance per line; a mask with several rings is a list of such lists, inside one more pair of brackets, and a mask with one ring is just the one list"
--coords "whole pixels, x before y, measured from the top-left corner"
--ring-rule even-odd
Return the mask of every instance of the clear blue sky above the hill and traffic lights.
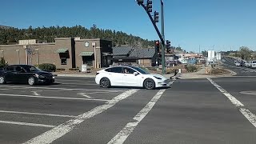
[[[199, 46], [201, 50], [238, 50], [240, 46], [256, 50], [255, 0], [163, 1], [165, 34], [172, 46], [195, 52]], [[153, 0], [153, 10], [160, 10], [160, 0]], [[5, 26], [90, 28], [96, 24], [102, 29], [158, 39], [135, 0], [8, 0], [1, 2], [0, 14], [0, 25]]]

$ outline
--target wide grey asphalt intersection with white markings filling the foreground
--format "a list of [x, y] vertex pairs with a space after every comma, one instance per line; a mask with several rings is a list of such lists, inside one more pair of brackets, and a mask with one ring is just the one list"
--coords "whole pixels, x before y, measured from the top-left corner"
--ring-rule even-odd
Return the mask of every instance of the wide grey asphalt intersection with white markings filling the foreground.
[[256, 78], [103, 89], [94, 78], [0, 86], [0, 143], [256, 142]]

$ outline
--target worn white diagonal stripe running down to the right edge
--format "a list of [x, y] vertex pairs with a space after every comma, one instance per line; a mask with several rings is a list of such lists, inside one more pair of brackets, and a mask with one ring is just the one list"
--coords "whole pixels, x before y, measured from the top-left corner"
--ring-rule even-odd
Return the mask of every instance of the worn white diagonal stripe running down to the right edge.
[[221, 86], [218, 86], [212, 79], [207, 78], [222, 94], [226, 95], [227, 98], [230, 99], [230, 102], [234, 104], [234, 106], [238, 107], [238, 110], [248, 119], [248, 121], [256, 127], [256, 116], [251, 113], [250, 110], [246, 109], [245, 106], [238, 101], [237, 98], [234, 98], [233, 95], [229, 94], [226, 90], [224, 90]]

